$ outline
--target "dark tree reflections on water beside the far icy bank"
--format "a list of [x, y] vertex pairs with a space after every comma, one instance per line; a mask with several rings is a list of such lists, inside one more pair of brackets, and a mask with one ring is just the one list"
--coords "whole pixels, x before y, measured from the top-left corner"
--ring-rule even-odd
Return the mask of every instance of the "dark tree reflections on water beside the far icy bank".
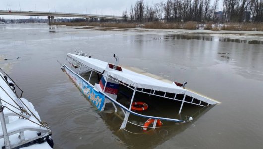
[[179, 35], [167, 35], [165, 39], [183, 39], [183, 40], [204, 40], [204, 41], [220, 41], [220, 42], [237, 42], [246, 44], [263, 44], [260, 40], [242, 40], [242, 39], [231, 39], [217, 36], [205, 36], [195, 34], [179, 34]]

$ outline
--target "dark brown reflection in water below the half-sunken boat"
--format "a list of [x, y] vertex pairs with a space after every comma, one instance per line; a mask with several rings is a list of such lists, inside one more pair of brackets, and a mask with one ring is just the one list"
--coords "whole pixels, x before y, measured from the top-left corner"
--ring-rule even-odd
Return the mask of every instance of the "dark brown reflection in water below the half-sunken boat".
[[[194, 120], [190, 123], [175, 124], [172, 122], [163, 122], [164, 126], [156, 129], [148, 129], [147, 132], [143, 133], [140, 127], [128, 123], [125, 129], [119, 130], [121, 119], [118, 114], [101, 114], [102, 119], [106, 125], [113, 131], [121, 141], [126, 143], [129, 148], [133, 149], [152, 149], [156, 146], [163, 144], [172, 137], [184, 132], [189, 127], [195, 127], [194, 123], [206, 112], [208, 112], [213, 106], [197, 108], [196, 110], [190, 110]], [[193, 107], [192, 107], [193, 108]], [[185, 110], [186, 111], [186, 110]], [[190, 112], [190, 113], [191, 113]], [[193, 113], [194, 112], [194, 113]], [[188, 114], [189, 110], [188, 110]], [[186, 113], [185, 113], [186, 114]], [[185, 115], [182, 114], [182, 117]]]

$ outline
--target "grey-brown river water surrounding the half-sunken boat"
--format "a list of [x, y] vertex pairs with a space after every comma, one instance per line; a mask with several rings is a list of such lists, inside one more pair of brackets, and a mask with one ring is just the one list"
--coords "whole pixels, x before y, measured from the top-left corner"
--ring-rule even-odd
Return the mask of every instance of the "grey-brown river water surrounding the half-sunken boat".
[[[50, 123], [54, 149], [263, 149], [262, 41], [76, 28], [49, 32], [46, 24], [0, 25], [0, 67]], [[186, 105], [180, 116], [178, 108], [160, 110], [193, 116], [191, 123], [164, 123], [146, 133], [130, 125], [119, 130], [120, 116], [98, 112], [61, 71], [57, 60], [65, 63], [66, 54], [76, 49], [111, 63], [117, 54], [120, 65], [187, 81], [187, 88], [221, 103]]]

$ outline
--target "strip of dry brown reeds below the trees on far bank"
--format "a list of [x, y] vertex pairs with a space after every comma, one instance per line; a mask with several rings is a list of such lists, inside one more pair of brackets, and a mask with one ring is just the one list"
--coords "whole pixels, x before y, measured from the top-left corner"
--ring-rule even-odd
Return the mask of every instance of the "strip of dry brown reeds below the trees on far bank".
[[145, 28], [145, 29], [190, 29], [190, 30], [232, 30], [232, 31], [263, 31], [263, 23], [227, 23], [214, 24], [208, 22], [200, 24], [189, 21], [186, 23], [99, 23], [99, 22], [55, 22], [55, 25], [66, 26], [97, 26], [97, 27], [117, 27], [117, 28]]

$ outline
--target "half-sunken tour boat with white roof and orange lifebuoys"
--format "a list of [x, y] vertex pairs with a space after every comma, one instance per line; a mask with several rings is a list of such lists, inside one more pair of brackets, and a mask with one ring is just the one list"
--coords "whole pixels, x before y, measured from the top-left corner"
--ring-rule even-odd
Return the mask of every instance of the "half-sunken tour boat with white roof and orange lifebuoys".
[[[124, 118], [120, 129], [125, 128], [127, 122], [132, 123], [128, 120], [130, 114], [148, 119], [144, 125], [141, 125], [143, 130], [147, 130], [150, 124], [153, 124], [151, 128], [162, 125], [161, 121], [185, 122], [174, 118], [181, 113], [184, 103], [202, 107], [219, 103], [185, 89], [183, 87], [185, 83], [168, 83], [167, 80], [153, 74], [118, 66], [119, 59], [116, 55], [114, 58], [116, 59], [115, 64], [110, 64], [83, 55], [83, 53], [68, 53], [62, 69], [98, 110], [103, 111], [109, 107], [107, 105], [111, 105], [106, 103], [112, 103], [111, 107], [114, 108], [114, 112], [123, 112]], [[130, 92], [130, 95], [127, 92]], [[143, 99], [144, 102], [136, 98]], [[160, 112], [158, 114], [148, 112], [149, 109], [154, 111], [153, 107], [163, 106], [156, 101], [162, 102], [166, 99], [177, 101], [178, 112], [174, 117], [160, 116]], [[151, 115], [148, 115], [149, 113]]]

